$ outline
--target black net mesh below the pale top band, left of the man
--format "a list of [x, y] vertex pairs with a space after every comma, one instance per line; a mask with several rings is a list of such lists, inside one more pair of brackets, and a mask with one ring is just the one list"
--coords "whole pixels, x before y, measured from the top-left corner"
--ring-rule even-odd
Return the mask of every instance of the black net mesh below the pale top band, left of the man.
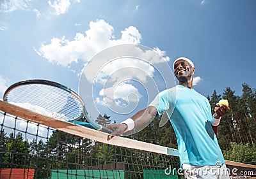
[[183, 178], [172, 170], [177, 156], [109, 145], [3, 110], [0, 124], [0, 178]]

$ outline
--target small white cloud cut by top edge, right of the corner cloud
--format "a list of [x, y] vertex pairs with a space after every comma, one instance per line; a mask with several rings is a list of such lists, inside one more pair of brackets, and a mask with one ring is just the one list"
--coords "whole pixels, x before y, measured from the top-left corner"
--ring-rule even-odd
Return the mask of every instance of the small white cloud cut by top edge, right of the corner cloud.
[[52, 10], [52, 14], [56, 16], [66, 13], [71, 5], [69, 0], [48, 1], [48, 4]]

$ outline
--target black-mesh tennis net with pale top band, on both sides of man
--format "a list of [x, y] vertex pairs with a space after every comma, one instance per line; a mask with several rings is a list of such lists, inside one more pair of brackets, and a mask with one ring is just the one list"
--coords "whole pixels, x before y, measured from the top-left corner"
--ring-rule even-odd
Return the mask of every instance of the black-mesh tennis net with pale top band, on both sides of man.
[[[0, 101], [0, 178], [184, 178], [173, 148], [115, 136]], [[230, 177], [256, 166], [226, 161]]]

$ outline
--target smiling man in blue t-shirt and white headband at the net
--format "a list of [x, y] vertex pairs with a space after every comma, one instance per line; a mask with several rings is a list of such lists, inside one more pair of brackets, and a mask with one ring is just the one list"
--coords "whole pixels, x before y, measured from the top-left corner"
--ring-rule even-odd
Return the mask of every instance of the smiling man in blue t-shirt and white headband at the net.
[[[206, 97], [193, 89], [195, 66], [185, 57], [173, 63], [179, 85], [160, 92], [147, 108], [121, 124], [108, 125], [116, 134], [148, 124], [156, 113], [166, 111], [177, 136], [180, 164], [186, 178], [229, 178], [216, 138], [220, 118], [228, 106], [216, 104], [214, 115]], [[225, 172], [223, 172], [225, 171]]]

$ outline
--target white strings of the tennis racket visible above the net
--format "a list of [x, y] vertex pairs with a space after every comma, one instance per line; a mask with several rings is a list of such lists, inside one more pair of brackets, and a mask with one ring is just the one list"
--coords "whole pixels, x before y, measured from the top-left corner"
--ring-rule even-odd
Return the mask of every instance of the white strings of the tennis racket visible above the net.
[[70, 92], [42, 84], [17, 87], [10, 91], [7, 100], [51, 117], [71, 120], [81, 116], [83, 107]]

